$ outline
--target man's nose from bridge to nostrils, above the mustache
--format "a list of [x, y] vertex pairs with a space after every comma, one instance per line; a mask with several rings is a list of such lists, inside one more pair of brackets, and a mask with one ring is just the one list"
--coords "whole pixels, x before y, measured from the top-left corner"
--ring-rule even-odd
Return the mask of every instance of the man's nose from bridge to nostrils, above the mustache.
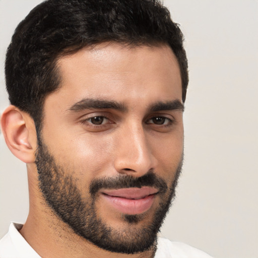
[[135, 177], [146, 174], [157, 166], [152, 153], [151, 139], [148, 140], [143, 125], [131, 126], [121, 130], [117, 140], [114, 167], [117, 172]]

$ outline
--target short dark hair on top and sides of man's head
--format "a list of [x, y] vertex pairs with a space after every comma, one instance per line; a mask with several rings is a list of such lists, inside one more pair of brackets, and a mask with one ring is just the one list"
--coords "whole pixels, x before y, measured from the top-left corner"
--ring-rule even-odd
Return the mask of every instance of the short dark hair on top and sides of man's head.
[[56, 60], [102, 42], [167, 44], [180, 67], [182, 101], [188, 84], [183, 34], [158, 0], [48, 0], [18, 25], [6, 55], [11, 104], [40, 126], [45, 97], [58, 89]]

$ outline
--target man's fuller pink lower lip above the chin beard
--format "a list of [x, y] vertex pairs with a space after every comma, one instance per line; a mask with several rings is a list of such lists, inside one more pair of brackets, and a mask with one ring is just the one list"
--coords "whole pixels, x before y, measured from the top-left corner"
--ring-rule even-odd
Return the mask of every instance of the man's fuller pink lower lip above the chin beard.
[[116, 210], [128, 215], [142, 214], [153, 205], [155, 195], [150, 195], [139, 200], [125, 199], [102, 194], [102, 197]]

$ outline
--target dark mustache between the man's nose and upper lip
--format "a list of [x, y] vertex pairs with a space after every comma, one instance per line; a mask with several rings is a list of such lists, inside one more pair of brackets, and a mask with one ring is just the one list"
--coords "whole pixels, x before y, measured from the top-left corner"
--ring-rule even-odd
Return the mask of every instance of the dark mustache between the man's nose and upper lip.
[[90, 184], [90, 193], [92, 197], [94, 197], [101, 188], [141, 188], [143, 186], [157, 188], [161, 194], [165, 193], [168, 188], [167, 183], [163, 178], [157, 176], [153, 170], [149, 170], [146, 174], [140, 177], [134, 177], [132, 175], [119, 175], [116, 177], [96, 178]]

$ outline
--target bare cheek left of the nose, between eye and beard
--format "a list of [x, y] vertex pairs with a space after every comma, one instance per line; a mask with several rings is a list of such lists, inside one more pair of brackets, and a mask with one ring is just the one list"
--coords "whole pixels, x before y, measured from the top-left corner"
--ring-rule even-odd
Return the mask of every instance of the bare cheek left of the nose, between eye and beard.
[[108, 136], [85, 132], [64, 132], [48, 137], [47, 146], [55, 159], [80, 180], [106, 175], [112, 158], [112, 142]]

